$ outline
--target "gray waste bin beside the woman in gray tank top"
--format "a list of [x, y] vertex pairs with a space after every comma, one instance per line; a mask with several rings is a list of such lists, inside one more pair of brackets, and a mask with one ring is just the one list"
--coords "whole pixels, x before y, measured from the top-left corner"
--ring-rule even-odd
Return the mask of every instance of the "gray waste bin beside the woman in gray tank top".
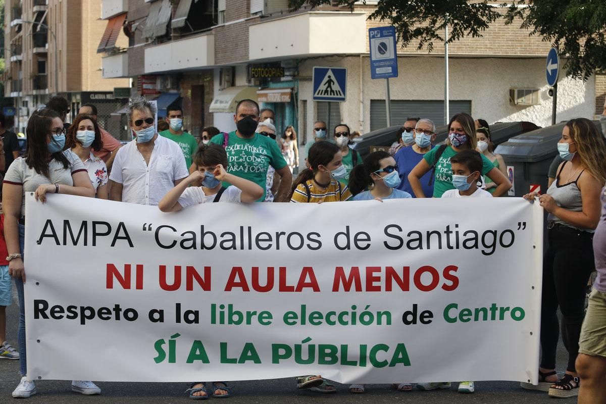
[[541, 193], [547, 191], [547, 173], [558, 154], [562, 128], [563, 123], [519, 134], [496, 148], [494, 153], [503, 156], [510, 180], [513, 177], [514, 196], [524, 196], [536, 186]]

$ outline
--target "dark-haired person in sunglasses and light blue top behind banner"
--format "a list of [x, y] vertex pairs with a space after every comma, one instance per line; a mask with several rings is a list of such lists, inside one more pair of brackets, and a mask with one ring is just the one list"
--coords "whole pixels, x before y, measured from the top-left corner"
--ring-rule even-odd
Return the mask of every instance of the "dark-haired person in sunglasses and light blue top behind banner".
[[386, 151], [370, 153], [364, 164], [357, 165], [349, 175], [349, 189], [353, 200], [401, 199], [412, 197], [394, 188], [400, 185], [396, 161]]

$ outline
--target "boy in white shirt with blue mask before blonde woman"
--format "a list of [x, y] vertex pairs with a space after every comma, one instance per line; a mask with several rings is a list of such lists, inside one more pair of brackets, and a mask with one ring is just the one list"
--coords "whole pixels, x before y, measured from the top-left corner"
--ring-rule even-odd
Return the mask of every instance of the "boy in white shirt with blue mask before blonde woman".
[[443, 198], [492, 197], [488, 191], [478, 188], [482, 172], [482, 156], [476, 150], [464, 150], [451, 157], [454, 190], [445, 191]]

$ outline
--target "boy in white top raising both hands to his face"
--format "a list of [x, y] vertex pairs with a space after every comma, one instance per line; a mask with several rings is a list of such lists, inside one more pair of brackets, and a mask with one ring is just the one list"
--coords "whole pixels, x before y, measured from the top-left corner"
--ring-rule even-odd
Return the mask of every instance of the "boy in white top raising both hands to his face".
[[[216, 144], [200, 145], [194, 154], [196, 171], [190, 174], [160, 200], [163, 212], [176, 212], [191, 205], [207, 202], [255, 202], [263, 188], [250, 180], [227, 173], [227, 153]], [[231, 184], [224, 188], [221, 182]], [[190, 187], [191, 185], [191, 187]]]

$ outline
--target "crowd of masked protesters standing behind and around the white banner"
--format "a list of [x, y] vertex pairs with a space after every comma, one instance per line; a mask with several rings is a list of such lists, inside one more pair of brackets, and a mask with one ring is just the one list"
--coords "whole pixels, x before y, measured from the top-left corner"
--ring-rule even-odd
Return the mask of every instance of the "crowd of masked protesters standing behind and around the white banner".
[[[362, 160], [351, 148], [355, 134], [346, 124], [331, 131], [315, 122], [313, 139], [305, 146], [307, 158], [300, 173], [295, 128], [279, 135], [275, 113], [259, 110], [252, 100], [236, 107], [236, 130], [221, 132], [208, 127], [200, 141], [184, 131], [181, 107], [167, 108], [167, 118], [156, 122], [155, 107], [145, 98], [128, 105], [128, 125], [133, 141], [120, 147], [100, 127], [94, 105], [83, 105], [72, 124], [64, 99], [53, 98], [28, 121], [27, 150], [18, 156], [16, 141], [4, 129], [0, 134], [5, 153], [0, 153], [4, 174], [0, 227], [0, 358], [18, 359], [22, 376], [13, 397], [36, 394], [27, 375], [25, 351], [23, 264], [25, 193], [42, 202], [48, 193], [111, 199], [141, 205], [157, 205], [161, 211], [179, 211], [207, 202], [323, 203], [421, 197], [499, 197], [511, 188], [505, 162], [494, 154], [487, 122], [466, 113], [448, 122], [445, 144], [435, 145], [436, 126], [430, 119], [408, 118], [399, 141], [389, 152], [376, 151]], [[606, 106], [604, 110], [606, 122]], [[156, 130], [156, 125], [158, 130]], [[358, 134], [359, 136], [359, 134]], [[593, 122], [573, 119], [558, 142], [559, 165], [543, 195], [527, 194], [548, 213], [549, 247], [544, 257], [541, 366], [539, 384], [522, 387], [547, 391], [553, 397], [579, 395], [579, 402], [606, 402], [606, 147]], [[296, 178], [293, 180], [293, 174]], [[585, 286], [598, 271], [587, 314]], [[10, 305], [15, 279], [19, 300], [18, 351], [6, 342], [5, 306]], [[562, 337], [568, 350], [564, 376], [558, 377], [556, 346], [562, 312]], [[297, 386], [322, 393], [336, 392], [319, 375], [300, 376]], [[418, 389], [450, 388], [450, 382], [418, 383]], [[411, 391], [411, 383], [393, 385]], [[73, 380], [72, 389], [99, 394], [89, 380]], [[459, 383], [458, 391], [472, 393], [473, 381]], [[363, 393], [364, 384], [351, 385]], [[194, 382], [187, 390], [191, 399], [228, 397], [227, 382]]]

